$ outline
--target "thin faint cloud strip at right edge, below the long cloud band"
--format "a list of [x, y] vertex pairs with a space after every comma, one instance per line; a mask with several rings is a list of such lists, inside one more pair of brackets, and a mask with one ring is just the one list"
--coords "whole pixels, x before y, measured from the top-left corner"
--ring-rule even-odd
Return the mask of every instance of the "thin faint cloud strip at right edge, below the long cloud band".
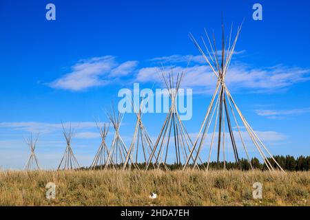
[[289, 109], [289, 110], [269, 110], [269, 109], [257, 109], [256, 113], [260, 116], [276, 119], [285, 115], [301, 115], [304, 113], [310, 113], [310, 108], [307, 109]]

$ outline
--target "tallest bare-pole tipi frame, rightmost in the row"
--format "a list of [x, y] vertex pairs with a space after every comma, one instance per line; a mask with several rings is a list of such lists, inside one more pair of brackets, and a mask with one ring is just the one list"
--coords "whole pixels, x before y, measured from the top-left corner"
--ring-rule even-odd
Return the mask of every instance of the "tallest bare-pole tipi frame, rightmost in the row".
[[[192, 34], [189, 34], [190, 38], [194, 42], [194, 45], [198, 48], [199, 52], [203, 55], [203, 58], [208, 63], [209, 67], [211, 68], [211, 71], [215, 74], [217, 77], [217, 83], [216, 83], [216, 89], [214, 91], [214, 94], [211, 98], [211, 102], [209, 104], [209, 107], [207, 108], [207, 113], [205, 115], [205, 118], [203, 120], [203, 123], [200, 127], [200, 131], [198, 133], [198, 136], [196, 138], [196, 141], [193, 144], [192, 151], [189, 153], [189, 157], [187, 158], [187, 162], [185, 163], [185, 166], [183, 169], [187, 168], [190, 163], [190, 158], [192, 155], [194, 155], [194, 151], [197, 148], [196, 157], [194, 159], [193, 168], [197, 167], [197, 159], [200, 155], [200, 151], [203, 148], [205, 144], [205, 139], [207, 137], [207, 133], [209, 131], [209, 127], [211, 125], [211, 122], [214, 122], [214, 128], [213, 133], [211, 135], [211, 143], [209, 146], [209, 155], [207, 160], [207, 169], [209, 168], [210, 158], [211, 158], [211, 152], [212, 152], [212, 146], [215, 143], [214, 137], [217, 133], [217, 153], [216, 158], [218, 162], [218, 166], [220, 164], [220, 153], [223, 154], [223, 168], [225, 168], [225, 135], [228, 136], [228, 139], [230, 139], [230, 143], [232, 146], [232, 150], [234, 151], [234, 158], [236, 160], [236, 163], [238, 166], [240, 166], [240, 157], [238, 155], [238, 146], [236, 137], [239, 137], [239, 143], [242, 144], [242, 147], [245, 150], [245, 155], [247, 156], [247, 161], [249, 162], [249, 166], [253, 169], [253, 166], [251, 164], [251, 160], [249, 158], [249, 153], [247, 149], [247, 144], [245, 141], [244, 135], [242, 133], [247, 133], [247, 135], [250, 137], [249, 139], [254, 144], [256, 150], [260, 154], [260, 157], [262, 157], [262, 160], [265, 162], [267, 168], [269, 170], [274, 170], [275, 168], [271, 165], [271, 162], [267, 158], [267, 155], [273, 160], [274, 164], [276, 164], [276, 167], [280, 170], [284, 171], [282, 167], [278, 164], [276, 159], [274, 159], [273, 155], [268, 151], [266, 146], [262, 143], [258, 135], [255, 133], [254, 129], [249, 125], [247, 120], [245, 119], [244, 115], [242, 115], [240, 109], [236, 105], [236, 102], [234, 101], [234, 98], [232, 98], [227, 85], [225, 84], [225, 77], [227, 74], [227, 69], [229, 67], [229, 64], [231, 62], [231, 57], [234, 54], [234, 50], [236, 47], [236, 42], [238, 40], [238, 36], [240, 34], [240, 30], [242, 28], [242, 25], [238, 27], [236, 36], [234, 40], [231, 39], [231, 34], [233, 30], [233, 26], [231, 25], [231, 31], [229, 34], [229, 40], [225, 39], [225, 28], [224, 25], [222, 25], [222, 49], [220, 51], [220, 56], [218, 56], [218, 50], [216, 49], [216, 39], [213, 35], [213, 45], [209, 39], [209, 35], [207, 34], [207, 31], [205, 31], [205, 34], [207, 36], [209, 47], [205, 43], [203, 37], [203, 45], [205, 45], [205, 48], [207, 50], [208, 56], [203, 52], [200, 45], [198, 45], [197, 41], [194, 39], [194, 36]], [[228, 40], [228, 47], [227, 47], [227, 40]], [[216, 116], [214, 118], [214, 113], [216, 112]], [[237, 112], [237, 113], [236, 113]], [[237, 117], [239, 116], [241, 123], [245, 126], [246, 132], [242, 132], [241, 128], [239, 126]], [[231, 120], [231, 117], [234, 118], [234, 121]], [[213, 121], [214, 120], [214, 121]], [[236, 125], [236, 130], [234, 131], [233, 122]], [[227, 126], [227, 133], [225, 133], [225, 126]], [[241, 168], [241, 167], [240, 167]]]

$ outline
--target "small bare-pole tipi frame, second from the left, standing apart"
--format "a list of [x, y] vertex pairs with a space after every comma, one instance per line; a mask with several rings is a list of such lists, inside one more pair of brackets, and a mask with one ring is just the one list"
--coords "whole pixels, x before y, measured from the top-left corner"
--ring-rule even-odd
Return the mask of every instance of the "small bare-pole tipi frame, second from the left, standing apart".
[[[63, 124], [61, 125], [63, 126]], [[74, 156], [74, 153], [71, 148], [71, 140], [72, 140], [72, 137], [74, 136], [74, 131], [71, 127], [71, 124], [70, 124], [68, 131], [65, 131], [65, 127], [63, 126], [63, 135], [65, 136], [67, 147], [65, 148], [65, 153], [63, 154], [63, 157], [61, 158], [61, 162], [57, 170], [72, 170], [72, 169], [80, 168], [79, 162]]]

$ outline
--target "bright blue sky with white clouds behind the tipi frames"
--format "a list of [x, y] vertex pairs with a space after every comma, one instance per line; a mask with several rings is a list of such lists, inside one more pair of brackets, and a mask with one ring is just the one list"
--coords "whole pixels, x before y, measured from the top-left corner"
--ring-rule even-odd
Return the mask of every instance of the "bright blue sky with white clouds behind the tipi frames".
[[[56, 5], [56, 21], [45, 5]], [[252, 19], [262, 4], [263, 19]], [[65, 149], [61, 122], [72, 122], [72, 147], [82, 165], [92, 162], [101, 140], [94, 120], [118, 101], [122, 88], [161, 88], [161, 62], [190, 71], [183, 80], [194, 92], [197, 133], [214, 89], [189, 32], [204, 28], [220, 38], [245, 19], [227, 84], [242, 113], [276, 155], [309, 155], [310, 3], [308, 1], [6, 1], [0, 0], [0, 167], [23, 168], [23, 138], [40, 132], [37, 155], [55, 168]], [[136, 116], [126, 114], [121, 134], [130, 143]], [[146, 114], [156, 137], [165, 114]], [[112, 129], [110, 129], [112, 131]], [[111, 139], [112, 132], [109, 135]], [[110, 139], [108, 138], [108, 141]]]

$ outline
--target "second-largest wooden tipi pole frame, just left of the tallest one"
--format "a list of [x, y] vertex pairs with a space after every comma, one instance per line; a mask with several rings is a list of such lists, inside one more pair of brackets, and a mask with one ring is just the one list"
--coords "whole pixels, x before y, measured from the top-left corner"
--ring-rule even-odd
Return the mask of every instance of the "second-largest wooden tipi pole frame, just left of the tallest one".
[[[184, 76], [183, 74], [183, 72], [176, 74], [176, 78], [174, 77], [173, 71], [169, 72], [167, 74], [168, 76], [165, 76], [165, 72], [161, 74], [163, 82], [167, 87], [171, 104], [145, 169], [148, 169], [149, 165], [152, 164], [154, 160], [158, 168], [164, 166], [167, 170], [168, 155], [173, 155], [175, 159], [174, 164], [182, 167], [187, 161], [187, 157], [189, 157], [193, 142], [182, 120], [180, 120], [178, 108], [176, 107], [178, 89], [180, 88], [180, 83]], [[173, 142], [173, 144], [171, 144], [171, 142]], [[172, 153], [169, 153], [169, 147], [170, 149], [171, 147], [173, 148]], [[194, 161], [192, 155], [189, 158]], [[198, 159], [200, 159], [200, 157], [198, 157]]]

